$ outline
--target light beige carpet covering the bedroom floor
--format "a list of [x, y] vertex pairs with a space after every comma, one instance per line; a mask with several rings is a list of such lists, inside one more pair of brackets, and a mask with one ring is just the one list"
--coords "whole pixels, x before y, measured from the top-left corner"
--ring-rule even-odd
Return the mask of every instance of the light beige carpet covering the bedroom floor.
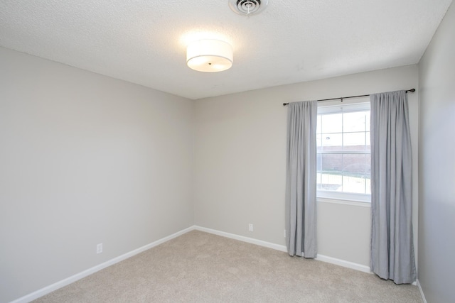
[[422, 302], [413, 285], [191, 231], [33, 302]]

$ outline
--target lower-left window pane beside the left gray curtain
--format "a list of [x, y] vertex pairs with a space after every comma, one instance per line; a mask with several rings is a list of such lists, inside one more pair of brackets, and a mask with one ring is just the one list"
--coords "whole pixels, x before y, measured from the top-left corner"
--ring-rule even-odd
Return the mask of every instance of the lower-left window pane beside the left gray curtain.
[[343, 155], [320, 155], [318, 170], [318, 189], [341, 191]]

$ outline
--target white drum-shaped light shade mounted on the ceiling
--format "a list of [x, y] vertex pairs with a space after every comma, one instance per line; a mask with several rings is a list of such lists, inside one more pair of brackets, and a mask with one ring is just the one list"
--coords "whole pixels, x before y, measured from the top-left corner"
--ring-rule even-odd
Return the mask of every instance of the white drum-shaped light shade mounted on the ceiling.
[[197, 40], [186, 48], [186, 64], [198, 72], [222, 72], [232, 62], [232, 46], [221, 40]]

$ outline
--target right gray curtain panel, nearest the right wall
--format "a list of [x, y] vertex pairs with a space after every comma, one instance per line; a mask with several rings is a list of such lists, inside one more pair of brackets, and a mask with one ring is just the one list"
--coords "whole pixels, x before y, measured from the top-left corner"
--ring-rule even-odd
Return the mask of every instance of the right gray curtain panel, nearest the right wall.
[[405, 91], [370, 95], [371, 270], [396, 284], [416, 280], [412, 155]]

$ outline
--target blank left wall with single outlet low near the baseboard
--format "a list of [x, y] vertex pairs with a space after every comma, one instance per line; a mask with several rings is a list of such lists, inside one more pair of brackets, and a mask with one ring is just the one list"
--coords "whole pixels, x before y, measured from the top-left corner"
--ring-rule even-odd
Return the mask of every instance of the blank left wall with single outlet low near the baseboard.
[[5, 48], [0, 67], [0, 302], [193, 225], [193, 101]]

